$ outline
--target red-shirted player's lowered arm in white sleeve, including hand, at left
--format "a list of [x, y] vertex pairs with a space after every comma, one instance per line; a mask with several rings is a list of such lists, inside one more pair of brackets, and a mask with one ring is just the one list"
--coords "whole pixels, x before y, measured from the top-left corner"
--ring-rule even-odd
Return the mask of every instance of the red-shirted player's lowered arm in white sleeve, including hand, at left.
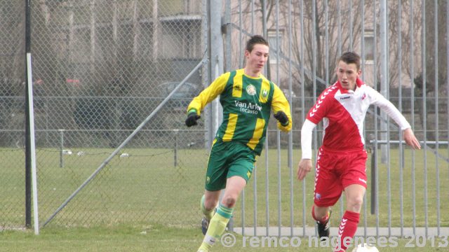
[[311, 136], [316, 124], [308, 119], [304, 121], [301, 128], [301, 150], [302, 159], [297, 166], [297, 179], [302, 180], [311, 171]]

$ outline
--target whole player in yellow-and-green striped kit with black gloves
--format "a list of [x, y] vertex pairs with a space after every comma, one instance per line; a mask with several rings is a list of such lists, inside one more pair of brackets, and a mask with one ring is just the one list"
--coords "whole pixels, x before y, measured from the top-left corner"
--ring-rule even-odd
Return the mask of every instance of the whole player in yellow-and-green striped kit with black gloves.
[[[206, 190], [201, 198], [205, 237], [198, 251], [209, 251], [225, 232], [237, 197], [253, 172], [255, 156], [262, 151], [271, 111], [280, 130], [288, 132], [292, 128], [286, 97], [261, 74], [268, 52], [268, 41], [262, 36], [252, 36], [246, 43], [245, 68], [222, 74], [187, 109], [185, 123], [191, 127], [196, 125], [206, 104], [218, 95], [223, 107], [223, 122], [210, 151]], [[215, 213], [222, 189], [225, 193]]]

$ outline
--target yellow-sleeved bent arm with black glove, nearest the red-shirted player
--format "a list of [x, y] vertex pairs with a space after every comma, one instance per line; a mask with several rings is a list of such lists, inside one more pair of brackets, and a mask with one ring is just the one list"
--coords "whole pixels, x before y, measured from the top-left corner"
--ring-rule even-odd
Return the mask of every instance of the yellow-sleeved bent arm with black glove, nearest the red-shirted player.
[[272, 110], [274, 118], [278, 120], [278, 129], [283, 132], [289, 132], [292, 130], [292, 116], [290, 114], [290, 104], [283, 95], [283, 92], [277, 85], [274, 85]]

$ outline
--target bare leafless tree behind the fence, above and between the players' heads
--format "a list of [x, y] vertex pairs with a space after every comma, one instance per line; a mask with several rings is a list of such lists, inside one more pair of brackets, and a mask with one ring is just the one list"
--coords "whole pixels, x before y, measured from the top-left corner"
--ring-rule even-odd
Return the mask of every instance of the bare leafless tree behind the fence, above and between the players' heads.
[[[354, 50], [354, 48], [360, 46], [362, 23], [360, 13], [363, 6], [358, 2], [349, 5], [349, 1], [342, 1], [342, 3], [339, 3], [340, 1], [316, 1], [315, 11], [313, 11], [312, 1], [293, 0], [291, 6], [288, 6], [288, 1], [279, 1], [279, 6], [276, 6], [276, 1], [274, 0], [258, 0], [254, 1], [254, 6], [251, 6], [251, 1], [244, 1], [242, 6], [237, 6], [233, 9], [233, 13], [238, 13], [239, 8], [241, 8], [242, 13], [248, 17], [252, 8], [254, 8], [256, 17], [261, 20], [262, 4], [264, 2], [267, 10], [267, 29], [274, 30], [276, 22], [282, 29], [288, 29], [289, 15], [291, 15], [292, 38], [288, 38], [288, 33], [283, 32], [282, 46], [287, 48], [288, 43], [292, 43], [291, 60], [293, 66], [295, 66], [292, 74], [294, 82], [301, 83], [301, 85], [304, 84], [305, 90], [312, 94], [314, 88], [312, 83], [314, 76], [316, 76], [319, 79], [316, 85], [316, 92], [321, 92], [326, 85], [335, 80], [333, 78], [335, 73], [334, 65], [340, 56], [340, 52]], [[328, 4], [327, 8], [326, 2]], [[372, 5], [371, 1], [367, 1], [364, 8]], [[277, 20], [275, 16], [276, 10], [279, 10]], [[304, 27], [301, 27], [302, 24]], [[244, 25], [248, 26], [247, 23]], [[260, 29], [260, 25], [257, 28]], [[339, 39], [340, 41], [338, 41]], [[328, 42], [326, 43], [326, 41]], [[302, 47], [301, 43], [303, 43]], [[328, 48], [327, 57], [326, 48]], [[283, 57], [281, 67], [283, 71], [288, 71], [288, 58], [285, 53], [281, 55]], [[314, 61], [316, 62], [315, 65]], [[302, 77], [300, 76], [302, 65], [304, 65], [306, 72], [304, 83], [302, 83]], [[326, 83], [326, 76], [329, 77], [329, 83]], [[300, 85], [294, 85], [294, 90], [299, 92]]]

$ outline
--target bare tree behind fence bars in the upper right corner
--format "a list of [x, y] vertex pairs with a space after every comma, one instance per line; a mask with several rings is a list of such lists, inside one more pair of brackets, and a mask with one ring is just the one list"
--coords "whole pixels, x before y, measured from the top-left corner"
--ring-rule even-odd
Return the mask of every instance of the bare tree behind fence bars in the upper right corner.
[[[427, 137], [431, 140], [435, 139], [434, 118], [438, 113], [438, 111], [429, 113], [429, 111], [434, 111], [435, 100], [433, 98], [436, 92], [440, 97], [441, 95], [447, 97], [445, 90], [447, 83], [447, 57], [445, 57], [447, 55], [447, 30], [444, 25], [447, 3], [437, 1], [437, 6], [434, 3], [434, 1], [420, 3], [394, 1], [389, 3], [389, 83], [393, 87], [398, 86], [401, 78], [410, 81], [410, 83], [405, 83], [406, 81], [403, 80], [402, 85], [410, 86], [414, 92], [415, 101], [413, 102], [420, 114], [420, 125], [424, 127], [425, 118], [426, 127], [429, 129]], [[425, 13], [422, 12], [422, 4], [425, 4]], [[425, 18], [424, 27], [423, 18]], [[401, 52], [401, 58], [398, 57], [399, 52]], [[437, 55], [438, 61], [435, 59], [435, 52], [441, 55], [440, 57]], [[423, 57], [425, 57], [425, 66]], [[438, 63], [438, 68], [435, 67], [436, 63]], [[425, 90], [423, 85], [424, 67]], [[436, 90], [436, 80], [439, 84], [438, 90]], [[410, 93], [403, 94], [405, 97], [410, 95]], [[427, 111], [424, 111], [423, 96], [426, 97]]]

